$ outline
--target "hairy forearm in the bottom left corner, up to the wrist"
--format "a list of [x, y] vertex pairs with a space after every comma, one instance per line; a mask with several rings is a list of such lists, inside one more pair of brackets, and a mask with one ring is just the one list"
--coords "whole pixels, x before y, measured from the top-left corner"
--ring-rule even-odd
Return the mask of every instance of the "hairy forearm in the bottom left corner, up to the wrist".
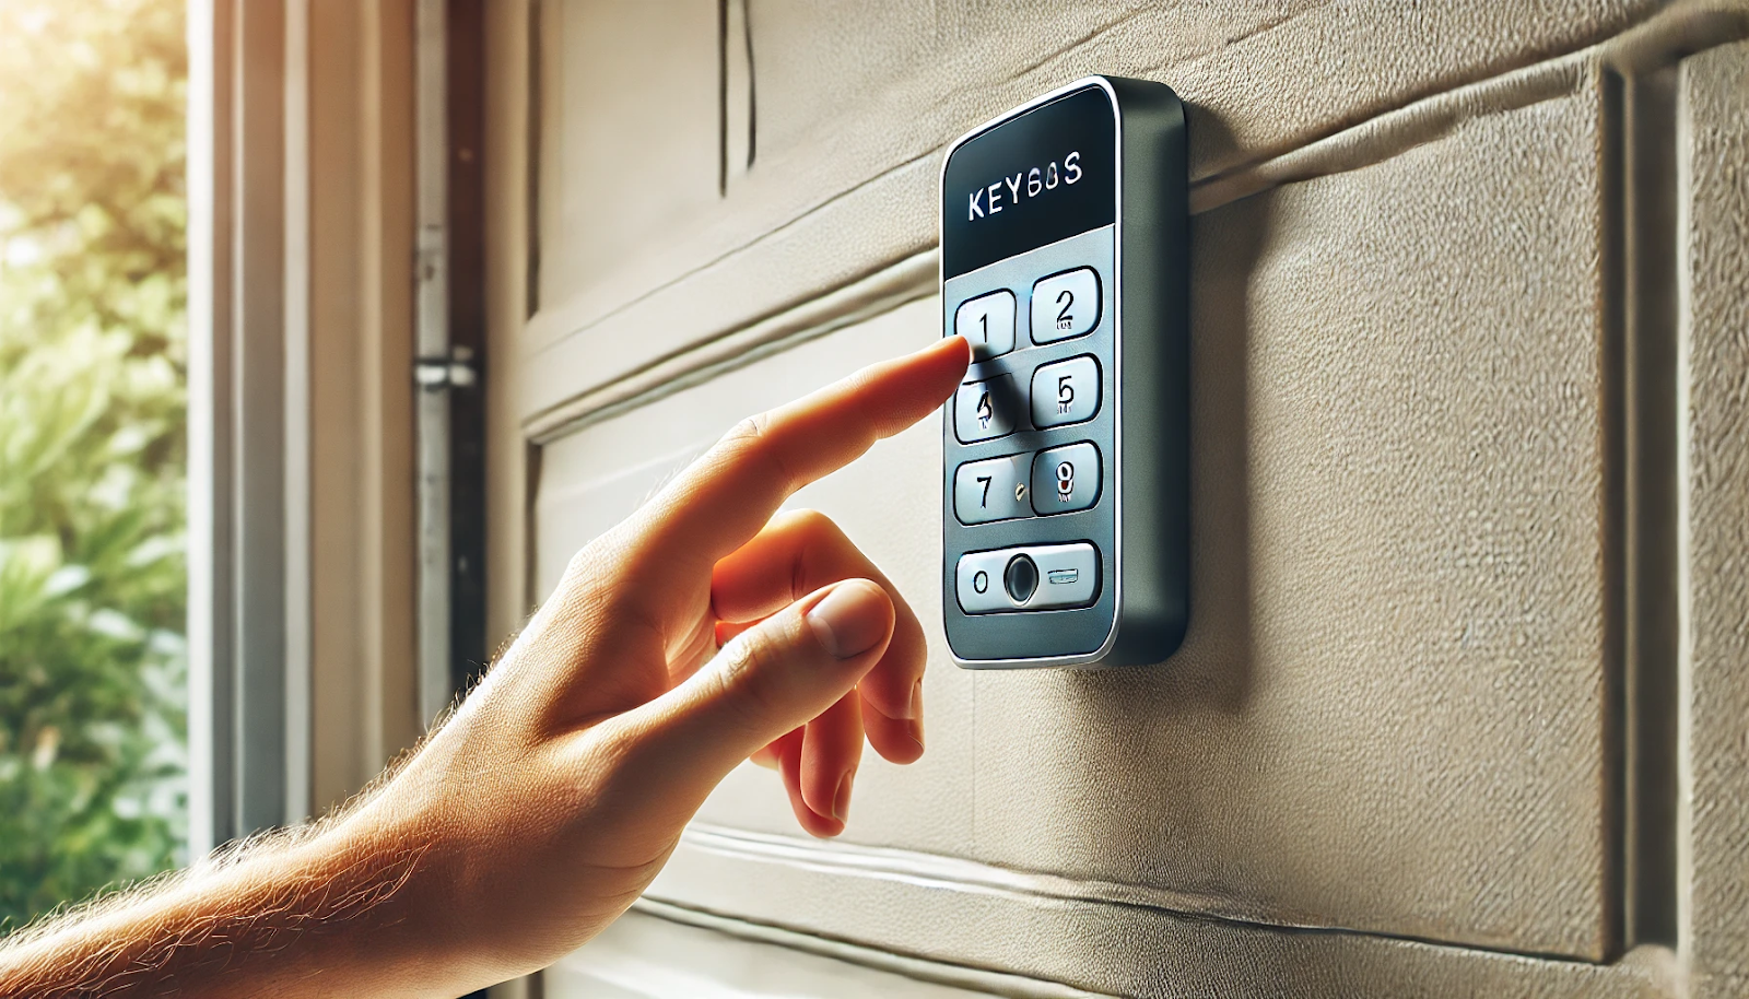
[[343, 829], [268, 843], [0, 943], [0, 996], [430, 994], [420, 863]]

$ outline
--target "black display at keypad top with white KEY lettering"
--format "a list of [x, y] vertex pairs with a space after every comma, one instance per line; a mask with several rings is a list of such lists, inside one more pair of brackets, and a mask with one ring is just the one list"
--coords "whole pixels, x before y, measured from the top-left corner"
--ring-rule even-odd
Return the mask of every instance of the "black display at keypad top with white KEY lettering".
[[955, 149], [941, 182], [943, 276], [1109, 226], [1114, 136], [1111, 101], [1086, 87]]

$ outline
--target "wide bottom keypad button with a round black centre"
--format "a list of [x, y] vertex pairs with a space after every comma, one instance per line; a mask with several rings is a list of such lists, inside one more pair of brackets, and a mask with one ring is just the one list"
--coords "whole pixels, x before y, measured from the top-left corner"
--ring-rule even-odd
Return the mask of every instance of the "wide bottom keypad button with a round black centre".
[[1098, 593], [1098, 549], [1077, 541], [972, 551], [953, 576], [967, 614], [1086, 607]]

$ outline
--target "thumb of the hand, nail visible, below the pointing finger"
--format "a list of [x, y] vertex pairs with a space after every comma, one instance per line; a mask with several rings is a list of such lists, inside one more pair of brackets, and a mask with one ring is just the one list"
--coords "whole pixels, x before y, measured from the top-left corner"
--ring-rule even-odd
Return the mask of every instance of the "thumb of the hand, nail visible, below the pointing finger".
[[892, 598], [847, 579], [742, 632], [715, 660], [637, 709], [638, 784], [652, 796], [701, 803], [763, 745], [829, 709], [868, 674], [892, 639]]

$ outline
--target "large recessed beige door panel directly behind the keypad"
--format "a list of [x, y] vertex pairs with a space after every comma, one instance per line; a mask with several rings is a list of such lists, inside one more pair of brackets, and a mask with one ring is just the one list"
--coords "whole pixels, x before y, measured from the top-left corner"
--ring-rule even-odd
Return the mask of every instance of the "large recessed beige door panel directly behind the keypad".
[[[930, 611], [932, 422], [798, 497], [883, 565], [932, 642], [929, 754], [908, 770], [869, 754], [847, 842], [1228, 919], [1602, 955], [1592, 87], [1195, 220], [1195, 588], [1170, 663], [950, 665]], [[918, 301], [551, 444], [542, 584], [575, 523], [605, 527], [659, 478], [647, 455], [679, 460], [927, 343], [937, 317]], [[588, 486], [619, 469], [645, 469], [640, 488]], [[584, 495], [589, 509], [565, 499]], [[777, 779], [750, 766], [701, 821], [794, 833]], [[794, 850], [729, 910], [773, 919], [785, 864], [864, 863]], [[684, 870], [654, 894], [726, 905]], [[831, 891], [796, 905], [785, 919], [831, 936], [871, 919]]]

